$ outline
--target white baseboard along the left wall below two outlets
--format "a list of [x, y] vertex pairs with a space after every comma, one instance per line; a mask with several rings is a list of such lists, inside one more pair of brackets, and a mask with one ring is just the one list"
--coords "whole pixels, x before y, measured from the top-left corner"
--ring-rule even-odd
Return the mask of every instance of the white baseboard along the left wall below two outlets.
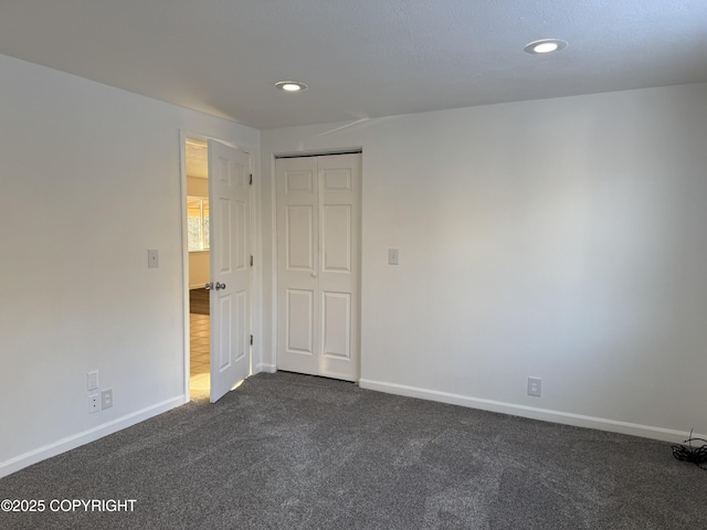
[[118, 431], [135, 425], [136, 423], [144, 422], [145, 420], [148, 420], [152, 416], [157, 416], [159, 414], [162, 414], [163, 412], [170, 411], [171, 409], [183, 405], [187, 402], [188, 400], [183, 395], [180, 395], [179, 398], [173, 398], [171, 400], [157, 403], [156, 405], [148, 406], [140, 411], [134, 412], [133, 414], [128, 414], [127, 416], [118, 417], [117, 420], [104, 423], [96, 427], [89, 428], [88, 431], [67, 436], [43, 447], [39, 447], [36, 449], [10, 458], [9, 460], [0, 463], [0, 478], [7, 477], [8, 475], [19, 471], [20, 469], [31, 466], [32, 464], [36, 464], [38, 462], [45, 460], [46, 458], [66, 453], [71, 449], [75, 449], [78, 446], [95, 442], [96, 439], [103, 438], [104, 436], [107, 436], [109, 434], [117, 433]]

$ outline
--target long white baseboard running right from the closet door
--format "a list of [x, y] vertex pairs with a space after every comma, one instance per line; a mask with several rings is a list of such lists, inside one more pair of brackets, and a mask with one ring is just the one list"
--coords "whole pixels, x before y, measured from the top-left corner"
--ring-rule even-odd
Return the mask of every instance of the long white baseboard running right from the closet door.
[[[513, 403], [504, 403], [500, 401], [484, 400], [467, 395], [439, 392], [436, 390], [407, 386], [404, 384], [371, 381], [369, 379], [361, 379], [359, 381], [359, 386], [361, 389], [377, 390], [379, 392], [386, 392], [389, 394], [437, 401], [441, 403], [449, 403], [451, 405], [468, 406], [471, 409], [481, 409], [482, 411], [498, 412], [502, 414], [510, 414], [514, 416], [528, 417], [531, 420], [541, 420], [545, 422], [560, 423], [563, 425], [573, 425], [576, 427], [588, 427], [597, 428], [599, 431], [609, 431], [612, 433], [630, 434], [633, 436], [659, 439], [663, 442], [683, 443], [686, 438], [689, 437], [689, 433], [683, 431], [673, 431], [669, 428], [654, 427], [651, 425], [640, 425], [629, 422], [618, 422], [615, 420], [606, 420], [603, 417], [583, 416], [581, 414], [571, 414], [568, 412], [537, 409], [534, 406], [517, 405]], [[693, 437], [707, 438], [707, 436], [704, 434], [693, 434]]]

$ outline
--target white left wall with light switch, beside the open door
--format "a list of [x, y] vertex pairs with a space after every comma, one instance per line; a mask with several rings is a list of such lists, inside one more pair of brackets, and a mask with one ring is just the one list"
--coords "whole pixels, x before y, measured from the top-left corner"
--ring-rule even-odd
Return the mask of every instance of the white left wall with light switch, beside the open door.
[[[2, 476], [184, 402], [180, 128], [256, 162], [260, 132], [7, 56], [0, 78]], [[113, 409], [88, 414], [89, 370]]]

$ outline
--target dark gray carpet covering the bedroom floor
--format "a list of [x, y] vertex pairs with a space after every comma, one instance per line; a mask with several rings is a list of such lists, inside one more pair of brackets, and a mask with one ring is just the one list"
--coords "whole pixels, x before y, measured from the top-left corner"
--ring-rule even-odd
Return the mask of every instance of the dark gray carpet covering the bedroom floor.
[[701, 529], [669, 444], [258, 374], [0, 479], [0, 499], [137, 499], [2, 529]]

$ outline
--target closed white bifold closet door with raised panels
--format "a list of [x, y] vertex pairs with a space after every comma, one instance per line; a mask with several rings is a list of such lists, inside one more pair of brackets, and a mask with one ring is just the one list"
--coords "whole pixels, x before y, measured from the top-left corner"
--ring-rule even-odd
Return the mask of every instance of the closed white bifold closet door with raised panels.
[[277, 368], [358, 381], [361, 156], [276, 160]]

